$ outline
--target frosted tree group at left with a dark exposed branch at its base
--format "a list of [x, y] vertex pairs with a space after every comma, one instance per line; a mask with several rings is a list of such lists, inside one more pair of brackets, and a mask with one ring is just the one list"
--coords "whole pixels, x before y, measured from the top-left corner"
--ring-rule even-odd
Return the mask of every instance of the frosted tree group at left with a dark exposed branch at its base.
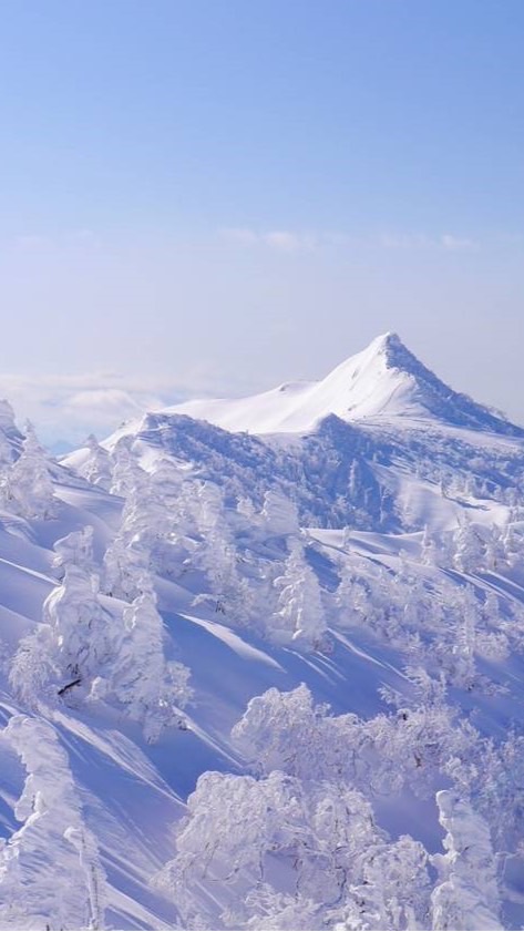
[[43, 604], [42, 624], [24, 637], [10, 679], [31, 707], [112, 698], [143, 727], [147, 740], [181, 723], [192, 696], [189, 670], [167, 660], [164, 624], [151, 574], [142, 570], [137, 594], [117, 608], [103, 604], [92, 550], [92, 528], [54, 544], [60, 585]]

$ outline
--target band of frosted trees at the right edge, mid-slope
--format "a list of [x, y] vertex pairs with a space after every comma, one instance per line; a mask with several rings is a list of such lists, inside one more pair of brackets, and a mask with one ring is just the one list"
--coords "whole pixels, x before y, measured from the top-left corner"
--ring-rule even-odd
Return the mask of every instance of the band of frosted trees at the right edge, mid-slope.
[[524, 613], [511, 588], [490, 576], [511, 572], [507, 550], [496, 571], [490, 569], [480, 546], [483, 540], [464, 522], [443, 563], [445, 573], [428, 532], [411, 559], [401, 551], [398, 560], [371, 562], [348, 542], [338, 560], [339, 584], [330, 596], [332, 624], [366, 629], [407, 653], [410, 662], [442, 672], [451, 685], [486, 685], [479, 662], [500, 663], [521, 649]]

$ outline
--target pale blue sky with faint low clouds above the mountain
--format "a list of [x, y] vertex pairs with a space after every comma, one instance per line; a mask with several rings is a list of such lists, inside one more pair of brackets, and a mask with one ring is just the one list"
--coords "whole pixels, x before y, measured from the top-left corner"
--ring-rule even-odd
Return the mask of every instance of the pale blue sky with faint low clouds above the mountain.
[[0, 391], [47, 439], [388, 329], [524, 421], [522, 0], [0, 18]]

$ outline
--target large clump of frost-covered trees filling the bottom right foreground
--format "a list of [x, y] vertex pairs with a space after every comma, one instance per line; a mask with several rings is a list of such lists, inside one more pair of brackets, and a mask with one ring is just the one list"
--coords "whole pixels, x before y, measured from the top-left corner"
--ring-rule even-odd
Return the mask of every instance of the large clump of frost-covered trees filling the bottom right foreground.
[[[225, 928], [502, 928], [482, 787], [454, 778], [485, 747], [441, 701], [361, 720], [316, 706], [306, 686], [273, 688], [232, 737], [251, 775], [199, 778], [158, 879], [189, 928], [216, 916], [216, 889]], [[439, 790], [446, 779], [456, 788]], [[379, 828], [377, 801], [407, 788], [436, 791], [445, 854]]]

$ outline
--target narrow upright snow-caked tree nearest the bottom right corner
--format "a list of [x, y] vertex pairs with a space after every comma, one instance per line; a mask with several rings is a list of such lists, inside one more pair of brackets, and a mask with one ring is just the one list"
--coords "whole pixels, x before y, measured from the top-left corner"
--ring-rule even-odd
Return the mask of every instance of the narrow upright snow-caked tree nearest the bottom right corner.
[[496, 864], [484, 820], [453, 790], [436, 793], [446, 854], [432, 858], [440, 883], [431, 902], [433, 929], [503, 929]]

